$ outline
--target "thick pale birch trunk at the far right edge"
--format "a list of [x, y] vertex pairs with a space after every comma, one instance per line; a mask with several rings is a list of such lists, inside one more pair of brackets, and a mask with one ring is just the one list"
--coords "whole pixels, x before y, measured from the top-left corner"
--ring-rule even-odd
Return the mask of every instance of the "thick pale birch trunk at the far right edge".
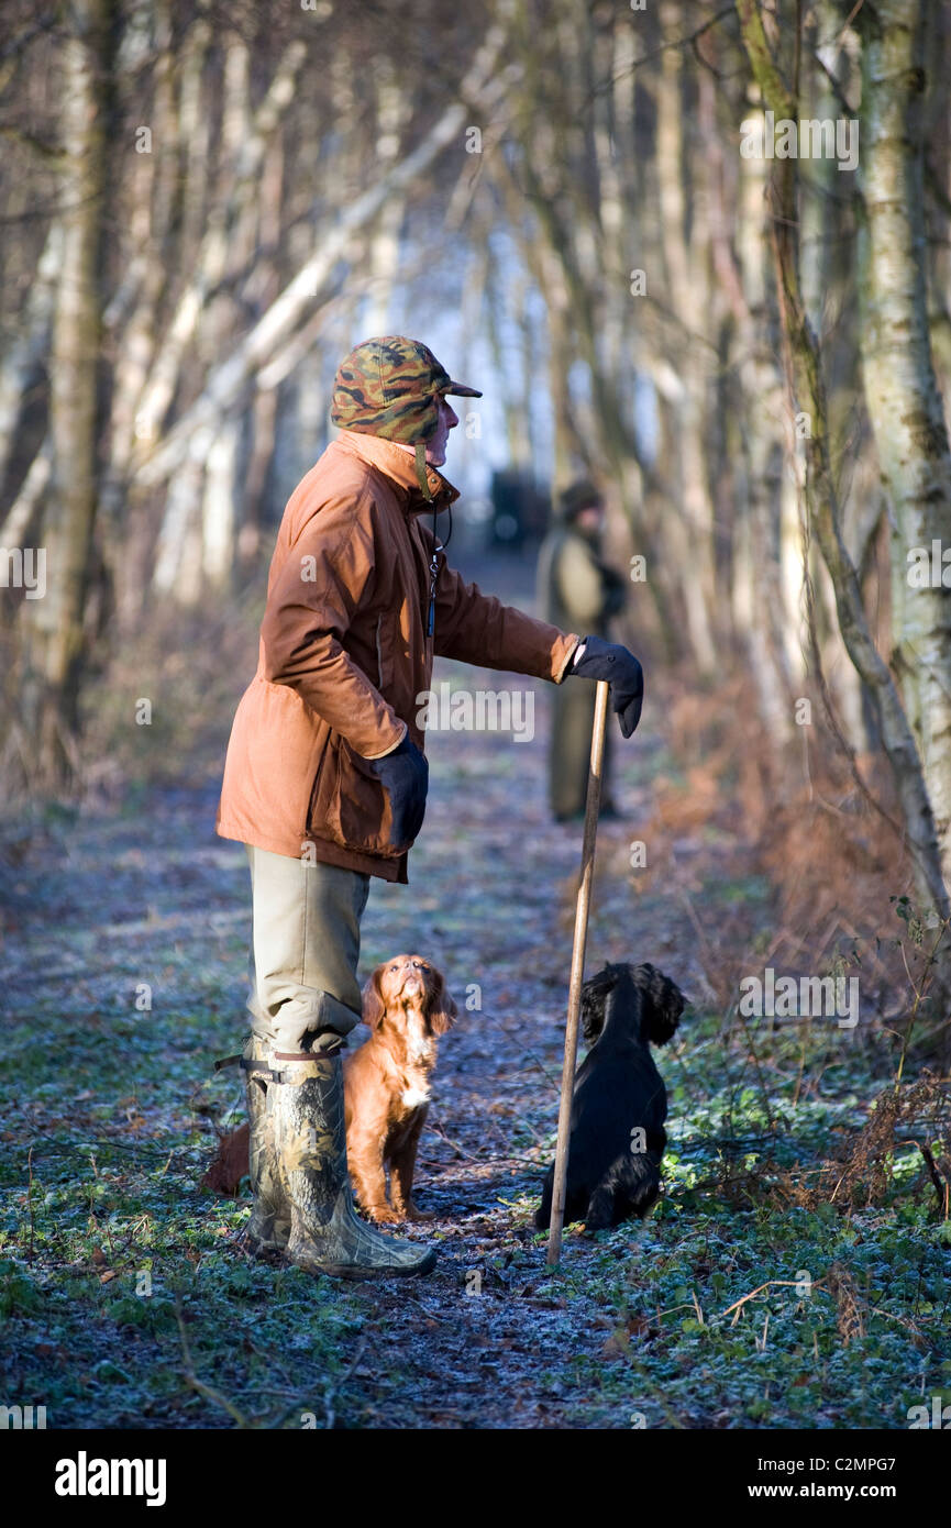
[[[922, 176], [923, 0], [859, 18], [865, 399], [891, 507], [893, 663], [913, 723], [951, 885], [951, 452], [931, 361]], [[919, 553], [916, 567], [910, 559]], [[951, 558], [949, 558], [951, 561]], [[927, 570], [927, 571], [925, 571]]]

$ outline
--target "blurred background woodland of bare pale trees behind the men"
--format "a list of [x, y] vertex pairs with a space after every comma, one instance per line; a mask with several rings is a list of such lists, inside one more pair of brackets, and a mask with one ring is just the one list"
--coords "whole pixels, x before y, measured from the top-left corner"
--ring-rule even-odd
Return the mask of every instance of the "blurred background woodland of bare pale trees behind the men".
[[[940, 929], [943, 6], [8, 0], [5, 23], [8, 801], [135, 762], [156, 686], [179, 700], [154, 766], [176, 709], [228, 714], [336, 364], [407, 332], [485, 393], [446, 469], [460, 555], [531, 559], [593, 477], [613, 559], [644, 559], [621, 634], [673, 686], [694, 802], [728, 759], [763, 833], [858, 842]], [[858, 168], [769, 157], [768, 113], [852, 124]]]

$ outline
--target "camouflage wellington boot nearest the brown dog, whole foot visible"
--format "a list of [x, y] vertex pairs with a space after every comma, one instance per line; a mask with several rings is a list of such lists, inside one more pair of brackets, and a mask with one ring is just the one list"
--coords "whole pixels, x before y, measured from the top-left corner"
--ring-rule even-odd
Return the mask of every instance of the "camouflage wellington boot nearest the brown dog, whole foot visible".
[[268, 1102], [274, 1099], [277, 1154], [290, 1206], [289, 1261], [336, 1279], [428, 1273], [434, 1248], [387, 1236], [353, 1209], [339, 1054], [272, 1051], [271, 1057], [281, 1077], [268, 1089]]

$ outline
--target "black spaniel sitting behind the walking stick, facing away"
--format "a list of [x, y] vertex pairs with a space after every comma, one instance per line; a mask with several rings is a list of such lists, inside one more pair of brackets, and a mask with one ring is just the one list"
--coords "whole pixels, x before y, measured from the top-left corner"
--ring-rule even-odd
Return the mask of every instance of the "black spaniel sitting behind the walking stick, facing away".
[[[654, 966], [605, 966], [581, 989], [592, 1047], [575, 1073], [564, 1224], [586, 1230], [647, 1215], [661, 1192], [667, 1088], [650, 1045], [665, 1045], [686, 999]], [[650, 1044], [648, 1044], [650, 1042]], [[538, 1230], [552, 1218], [555, 1166], [544, 1180]]]

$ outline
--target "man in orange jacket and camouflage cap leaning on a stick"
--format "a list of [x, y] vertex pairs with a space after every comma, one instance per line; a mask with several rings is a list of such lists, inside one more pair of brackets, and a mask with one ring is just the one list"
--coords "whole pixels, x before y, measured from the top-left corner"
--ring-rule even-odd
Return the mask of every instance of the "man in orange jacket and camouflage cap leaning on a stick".
[[407, 882], [424, 821], [416, 697], [434, 654], [553, 683], [607, 678], [625, 736], [644, 692], [625, 648], [593, 637], [586, 649], [446, 565], [434, 532], [459, 497], [437, 471], [459, 423], [451, 393], [482, 397], [399, 335], [341, 364], [330, 408], [341, 434], [281, 520], [217, 817], [222, 837], [246, 845], [254, 903], [246, 1244], [339, 1277], [425, 1273], [436, 1261], [353, 1209], [339, 1054], [361, 1016], [370, 877]]

